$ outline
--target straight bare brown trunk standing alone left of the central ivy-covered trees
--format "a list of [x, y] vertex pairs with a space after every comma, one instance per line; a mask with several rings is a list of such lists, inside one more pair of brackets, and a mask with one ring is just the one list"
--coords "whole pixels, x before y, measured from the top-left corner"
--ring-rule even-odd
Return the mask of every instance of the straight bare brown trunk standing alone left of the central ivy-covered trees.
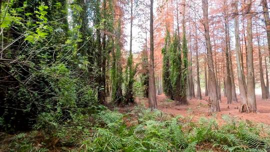
[[154, 81], [154, 46], [153, 46], [153, 0], [150, 0], [150, 62], [149, 62], [149, 91], [148, 107], [157, 108]]

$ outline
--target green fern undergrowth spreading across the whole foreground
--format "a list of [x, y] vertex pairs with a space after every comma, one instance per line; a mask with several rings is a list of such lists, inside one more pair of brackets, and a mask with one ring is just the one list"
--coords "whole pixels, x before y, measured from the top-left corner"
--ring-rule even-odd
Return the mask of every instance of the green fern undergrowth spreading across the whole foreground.
[[[214, 118], [172, 117], [159, 110], [134, 107], [119, 113], [101, 108], [78, 113], [72, 121], [17, 133], [4, 139], [6, 151], [267, 151], [270, 126], [223, 115]], [[49, 126], [49, 125], [48, 125]], [[6, 137], [7, 138], [7, 137]]]

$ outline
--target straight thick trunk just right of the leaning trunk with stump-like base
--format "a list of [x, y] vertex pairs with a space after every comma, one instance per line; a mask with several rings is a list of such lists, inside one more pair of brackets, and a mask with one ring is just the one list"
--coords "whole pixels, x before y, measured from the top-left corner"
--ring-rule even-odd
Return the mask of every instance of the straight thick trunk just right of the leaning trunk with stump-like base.
[[247, 103], [250, 112], [256, 112], [255, 81], [253, 67], [253, 46], [252, 46], [252, 14], [250, 14], [252, 0], [247, 0], [247, 76], [246, 76], [246, 94]]

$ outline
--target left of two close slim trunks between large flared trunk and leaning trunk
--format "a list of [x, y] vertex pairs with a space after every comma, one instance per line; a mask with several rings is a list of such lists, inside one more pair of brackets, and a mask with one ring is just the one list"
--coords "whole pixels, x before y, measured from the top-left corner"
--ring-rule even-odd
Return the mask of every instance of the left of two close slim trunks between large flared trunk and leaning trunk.
[[227, 18], [225, 17], [225, 56], [226, 56], [226, 92], [227, 104], [231, 104], [231, 79], [229, 71], [229, 53], [228, 53], [228, 31], [227, 31]]

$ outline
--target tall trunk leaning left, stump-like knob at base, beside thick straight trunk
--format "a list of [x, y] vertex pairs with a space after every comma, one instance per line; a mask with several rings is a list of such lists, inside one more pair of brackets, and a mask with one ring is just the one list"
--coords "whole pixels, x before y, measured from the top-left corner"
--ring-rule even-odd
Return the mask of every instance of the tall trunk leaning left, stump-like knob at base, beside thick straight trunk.
[[[238, 0], [234, 1], [234, 13], [238, 14]], [[236, 54], [236, 64], [237, 64], [237, 77], [238, 77], [238, 85], [239, 92], [241, 97], [241, 105], [246, 105], [247, 107], [247, 96], [245, 89], [245, 81], [243, 77], [243, 66], [241, 66], [240, 59], [240, 45], [239, 45], [239, 23], [238, 23], [238, 15], [234, 17], [234, 33], [235, 33], [235, 54]], [[242, 106], [240, 108], [240, 112], [244, 112]]]

